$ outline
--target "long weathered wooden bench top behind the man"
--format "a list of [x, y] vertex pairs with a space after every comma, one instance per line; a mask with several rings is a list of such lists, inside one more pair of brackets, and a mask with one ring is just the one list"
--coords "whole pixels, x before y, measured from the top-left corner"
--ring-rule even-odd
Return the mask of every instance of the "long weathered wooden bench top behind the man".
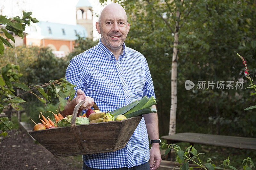
[[[213, 146], [256, 150], [256, 138], [251, 137], [210, 135], [202, 133], [177, 133], [170, 136], [163, 136], [162, 139], [165, 139], [167, 144], [188, 142], [190, 145], [206, 144]], [[165, 159], [167, 160], [168, 156], [166, 156]]]

